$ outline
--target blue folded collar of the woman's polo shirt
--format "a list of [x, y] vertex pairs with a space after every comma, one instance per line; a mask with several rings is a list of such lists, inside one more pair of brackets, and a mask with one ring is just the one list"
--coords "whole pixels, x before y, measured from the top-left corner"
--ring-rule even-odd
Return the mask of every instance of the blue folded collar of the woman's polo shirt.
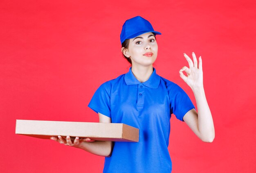
[[153, 73], [150, 75], [149, 79], [146, 82], [141, 83], [135, 78], [132, 73], [132, 67], [130, 67], [129, 72], [124, 75], [124, 80], [127, 85], [144, 84], [149, 88], [158, 88], [160, 83], [160, 76], [157, 75], [155, 68], [153, 68]]

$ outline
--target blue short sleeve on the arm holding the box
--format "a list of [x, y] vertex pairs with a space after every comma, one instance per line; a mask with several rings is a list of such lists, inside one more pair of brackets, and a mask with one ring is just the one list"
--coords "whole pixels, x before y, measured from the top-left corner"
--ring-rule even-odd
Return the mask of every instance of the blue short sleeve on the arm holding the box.
[[108, 83], [103, 83], [92, 96], [92, 100], [88, 104], [93, 111], [101, 113], [111, 118], [110, 111], [110, 89]]

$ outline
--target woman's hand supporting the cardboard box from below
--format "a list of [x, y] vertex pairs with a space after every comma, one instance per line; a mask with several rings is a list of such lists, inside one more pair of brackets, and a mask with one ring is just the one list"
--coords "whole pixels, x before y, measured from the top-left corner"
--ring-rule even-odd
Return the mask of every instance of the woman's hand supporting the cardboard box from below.
[[76, 137], [75, 140], [72, 142], [70, 136], [67, 136], [66, 139], [64, 139], [62, 136], [58, 136], [58, 137], [52, 136], [50, 139], [55, 140], [56, 142], [58, 142], [60, 144], [65, 144], [65, 145], [68, 145], [68, 146], [74, 146], [76, 148], [81, 148], [81, 144], [83, 142], [90, 141], [90, 138], [81, 138], [81, 139], [79, 139], [79, 137]]

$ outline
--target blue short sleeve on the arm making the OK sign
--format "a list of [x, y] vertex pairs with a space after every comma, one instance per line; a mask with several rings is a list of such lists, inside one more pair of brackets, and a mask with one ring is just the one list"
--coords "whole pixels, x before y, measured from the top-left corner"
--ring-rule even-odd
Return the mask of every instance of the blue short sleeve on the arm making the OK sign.
[[171, 113], [173, 113], [177, 119], [184, 121], [184, 115], [191, 109], [194, 109], [195, 106], [193, 105], [185, 91], [182, 88], [180, 88], [177, 84], [174, 84], [169, 95]]

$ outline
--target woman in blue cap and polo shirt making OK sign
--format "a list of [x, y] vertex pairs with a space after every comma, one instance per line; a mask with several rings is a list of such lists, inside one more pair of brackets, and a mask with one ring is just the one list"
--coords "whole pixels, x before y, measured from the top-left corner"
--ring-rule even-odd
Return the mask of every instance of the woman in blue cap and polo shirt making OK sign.
[[[195, 53], [193, 61], [184, 53], [189, 68], [180, 77], [191, 87], [198, 112], [188, 95], [177, 84], [157, 75], [153, 63], [157, 58], [157, 42], [150, 22], [137, 16], [126, 20], [121, 31], [121, 51], [131, 63], [129, 72], [102, 84], [94, 93], [91, 109], [99, 114], [99, 122], [124, 123], [139, 128], [139, 142], [86, 142], [89, 138], [52, 137], [60, 143], [105, 156], [103, 172], [169, 173], [168, 153], [171, 114], [186, 122], [204, 142], [215, 136], [213, 120], [204, 94], [202, 58]], [[183, 71], [187, 75], [183, 74]]]

